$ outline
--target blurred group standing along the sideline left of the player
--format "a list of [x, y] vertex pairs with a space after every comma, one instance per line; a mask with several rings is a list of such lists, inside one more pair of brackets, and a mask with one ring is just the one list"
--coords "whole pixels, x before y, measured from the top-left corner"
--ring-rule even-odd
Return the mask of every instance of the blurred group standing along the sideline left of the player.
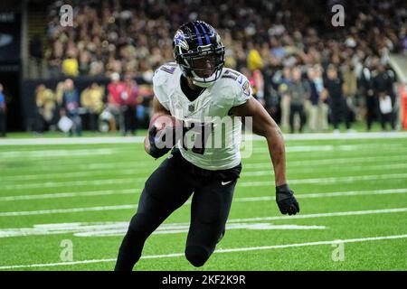
[[129, 75], [120, 78], [117, 72], [106, 87], [92, 82], [80, 90], [72, 79], [59, 82], [55, 89], [40, 84], [35, 89], [38, 113], [33, 129], [37, 133], [59, 129], [80, 136], [85, 125], [93, 132], [136, 135], [137, 128], [148, 121], [151, 98], [149, 87], [138, 86]]

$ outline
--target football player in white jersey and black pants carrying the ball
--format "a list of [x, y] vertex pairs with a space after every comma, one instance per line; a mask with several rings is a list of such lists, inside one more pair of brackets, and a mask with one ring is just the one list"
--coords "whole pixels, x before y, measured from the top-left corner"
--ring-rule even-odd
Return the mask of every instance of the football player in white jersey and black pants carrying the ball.
[[[141, 256], [146, 239], [186, 200], [192, 197], [191, 223], [185, 257], [193, 266], [203, 266], [224, 235], [233, 191], [241, 172], [240, 117], [251, 117], [253, 132], [267, 139], [275, 172], [276, 200], [282, 214], [295, 215], [299, 206], [286, 178], [283, 136], [279, 126], [251, 96], [249, 80], [223, 67], [225, 48], [213, 27], [202, 21], [183, 24], [175, 33], [175, 62], [158, 68], [153, 78], [154, 115], [174, 116], [189, 123], [208, 117], [234, 117], [225, 132], [231, 145], [187, 146], [176, 139], [171, 154], [153, 172], [141, 193], [137, 213], [118, 252], [115, 270], [132, 270]], [[186, 124], [186, 125], [185, 125]], [[211, 132], [211, 130], [210, 130]], [[149, 128], [147, 154], [158, 158], [170, 147], [158, 145], [157, 127]], [[205, 138], [205, 137], [204, 137]]]

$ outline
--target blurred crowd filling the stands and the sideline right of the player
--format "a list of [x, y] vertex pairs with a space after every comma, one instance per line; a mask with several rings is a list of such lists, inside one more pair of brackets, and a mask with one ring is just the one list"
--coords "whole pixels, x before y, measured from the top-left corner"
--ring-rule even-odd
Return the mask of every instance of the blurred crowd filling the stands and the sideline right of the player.
[[[283, 128], [325, 131], [328, 122], [337, 129], [343, 121], [350, 130], [354, 120], [365, 120], [370, 129], [378, 120], [394, 129], [396, 79], [389, 61], [391, 53], [407, 51], [403, 1], [63, 4], [73, 7], [73, 27], [60, 24], [62, 2], [55, 1], [48, 7], [48, 42], [32, 45], [32, 56], [46, 61], [50, 77], [118, 73], [150, 82], [159, 65], [173, 60], [179, 25], [199, 17], [221, 34], [225, 66], [251, 79], [256, 98]], [[345, 7], [345, 27], [331, 23], [336, 4]]]

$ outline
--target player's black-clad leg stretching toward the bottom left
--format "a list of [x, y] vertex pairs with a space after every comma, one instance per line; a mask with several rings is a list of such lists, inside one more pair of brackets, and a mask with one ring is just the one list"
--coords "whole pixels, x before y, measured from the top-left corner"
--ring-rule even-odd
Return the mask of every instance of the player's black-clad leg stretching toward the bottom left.
[[166, 159], [148, 178], [119, 248], [115, 270], [132, 270], [148, 236], [191, 196], [193, 186], [177, 157]]

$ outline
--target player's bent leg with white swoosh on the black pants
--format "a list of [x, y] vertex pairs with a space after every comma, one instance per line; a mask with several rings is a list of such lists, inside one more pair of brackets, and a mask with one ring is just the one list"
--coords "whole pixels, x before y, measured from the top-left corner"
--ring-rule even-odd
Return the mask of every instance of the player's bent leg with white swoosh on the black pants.
[[222, 238], [236, 182], [213, 179], [194, 192], [185, 247], [185, 256], [193, 266], [203, 266]]

